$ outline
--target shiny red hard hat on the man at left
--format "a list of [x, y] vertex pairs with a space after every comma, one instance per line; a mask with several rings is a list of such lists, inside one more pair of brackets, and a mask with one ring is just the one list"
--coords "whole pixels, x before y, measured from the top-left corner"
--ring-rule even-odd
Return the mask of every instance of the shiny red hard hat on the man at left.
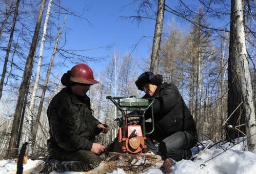
[[99, 81], [94, 80], [93, 72], [87, 64], [76, 64], [70, 71], [70, 81], [85, 84], [99, 83]]

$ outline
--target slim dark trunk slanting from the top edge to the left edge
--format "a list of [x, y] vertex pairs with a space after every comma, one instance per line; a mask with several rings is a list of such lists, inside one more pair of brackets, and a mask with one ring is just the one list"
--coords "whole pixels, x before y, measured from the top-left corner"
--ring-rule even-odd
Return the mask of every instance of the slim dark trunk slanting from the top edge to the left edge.
[[4, 80], [5, 80], [5, 74], [6, 74], [6, 70], [7, 70], [7, 62], [8, 62], [9, 54], [10, 54], [10, 51], [11, 51], [12, 38], [13, 38], [13, 33], [14, 33], [14, 29], [15, 29], [16, 19], [17, 19], [17, 15], [18, 15], [18, 5], [19, 5], [19, 0], [16, 1], [16, 7], [15, 7], [15, 10], [14, 10], [14, 16], [13, 16], [13, 19], [12, 19], [11, 33], [10, 33], [10, 38], [9, 38], [9, 42], [8, 42], [8, 47], [7, 47], [7, 50], [6, 50], [6, 56], [5, 56], [5, 62], [4, 62], [4, 67], [3, 67], [3, 73], [2, 73], [1, 81], [0, 81], [0, 99], [2, 97], [2, 91], [3, 91]]

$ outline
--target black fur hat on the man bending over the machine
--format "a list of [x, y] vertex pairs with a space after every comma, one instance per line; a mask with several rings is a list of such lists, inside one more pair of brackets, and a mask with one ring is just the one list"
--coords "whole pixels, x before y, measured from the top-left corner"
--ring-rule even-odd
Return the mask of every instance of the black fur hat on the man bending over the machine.
[[154, 84], [156, 86], [163, 83], [163, 76], [160, 74], [154, 75], [152, 72], [142, 73], [138, 79], [135, 81], [137, 88], [143, 91], [143, 88], [146, 84]]

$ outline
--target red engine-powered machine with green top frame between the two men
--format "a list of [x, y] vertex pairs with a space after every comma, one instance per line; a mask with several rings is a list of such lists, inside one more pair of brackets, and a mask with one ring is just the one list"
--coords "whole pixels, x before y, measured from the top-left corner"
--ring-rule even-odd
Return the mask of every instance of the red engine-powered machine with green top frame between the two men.
[[[154, 131], [153, 107], [154, 98], [142, 99], [135, 96], [111, 97], [107, 96], [118, 110], [122, 113], [122, 126], [118, 129], [117, 139], [122, 144], [120, 147], [123, 154], [142, 154], [145, 145], [146, 136]], [[151, 109], [152, 129], [146, 132], [145, 113]], [[131, 124], [129, 117], [140, 117], [140, 122]]]

